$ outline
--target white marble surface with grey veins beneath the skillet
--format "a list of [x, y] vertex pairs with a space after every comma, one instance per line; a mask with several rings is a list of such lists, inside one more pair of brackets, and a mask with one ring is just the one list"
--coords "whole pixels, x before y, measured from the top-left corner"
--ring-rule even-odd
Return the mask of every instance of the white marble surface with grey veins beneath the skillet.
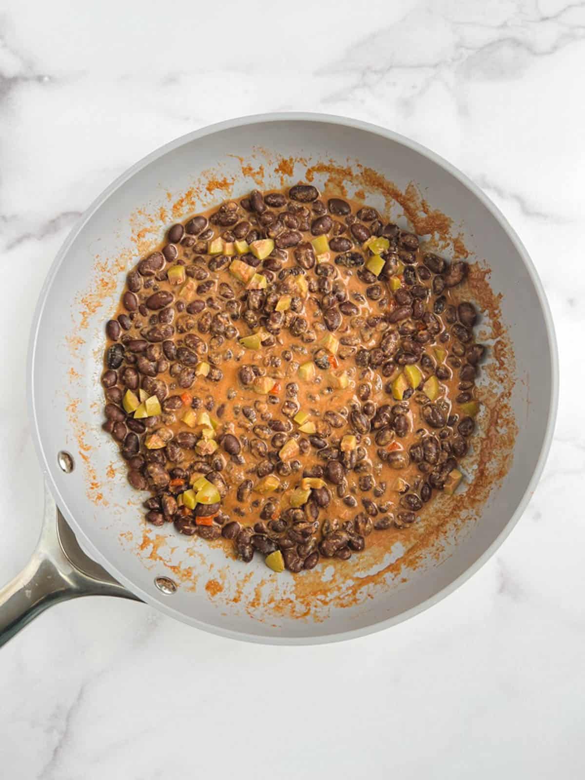
[[583, 777], [584, 69], [585, 4], [566, 0], [2, 3], [0, 579], [41, 517], [24, 383], [44, 275], [115, 176], [209, 122], [346, 114], [448, 158], [532, 254], [562, 371], [541, 484], [455, 594], [315, 648], [59, 606], [0, 652], [2, 777]]

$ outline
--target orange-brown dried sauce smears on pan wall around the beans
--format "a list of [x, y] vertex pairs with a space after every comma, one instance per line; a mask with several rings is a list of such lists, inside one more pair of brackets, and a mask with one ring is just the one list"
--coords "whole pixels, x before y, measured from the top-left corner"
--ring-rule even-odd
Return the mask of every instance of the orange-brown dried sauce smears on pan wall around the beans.
[[[450, 257], [470, 255], [462, 234], [452, 236], [452, 219], [432, 208], [413, 183], [406, 186], [405, 190], [400, 190], [373, 169], [349, 161], [344, 165], [332, 160], [313, 162], [300, 157], [284, 158], [261, 149], [257, 149], [253, 158], [254, 161], [239, 158], [240, 168], [242, 175], [253, 179], [259, 187], [270, 186], [265, 183], [265, 179], [274, 174], [280, 179], [281, 186], [302, 180], [313, 182], [318, 177], [320, 182], [325, 179], [324, 186], [329, 191], [340, 196], [346, 196], [349, 187], [353, 189], [353, 197], [360, 200], [366, 200], [367, 193], [373, 193], [385, 200], [388, 215], [398, 204], [413, 230], [420, 236], [429, 237], [434, 248], [448, 251]], [[262, 161], [259, 162], [258, 158]], [[296, 177], [293, 181], [296, 165], [304, 169], [304, 176]], [[159, 207], [152, 214], [146, 208], [135, 211], [131, 219], [134, 249], [120, 253], [111, 261], [102, 262], [96, 258], [94, 283], [90, 292], [79, 301], [81, 326], [87, 328], [90, 317], [94, 317], [105, 301], [114, 296], [118, 289], [119, 272], [126, 271], [137, 261], [137, 257], [153, 250], [162, 231], [168, 228], [169, 219], [185, 219], [195, 211], [223, 200], [232, 193], [235, 182], [233, 176], [221, 170], [204, 171], [197, 182], [180, 197], [166, 193], [168, 209]], [[467, 282], [450, 293], [454, 303], [458, 296], [461, 300], [466, 298], [477, 303], [484, 314], [484, 338], [489, 339], [491, 345], [491, 362], [482, 367], [489, 380], [488, 386], [480, 387], [485, 403], [478, 424], [484, 435], [473, 439], [476, 449], [463, 463], [466, 474], [473, 475], [466, 485], [466, 491], [451, 497], [443, 495], [435, 498], [432, 512], [426, 512], [423, 522], [415, 523], [408, 529], [372, 534], [368, 537], [366, 550], [359, 558], [349, 562], [336, 561], [335, 565], [331, 565], [325, 561], [321, 568], [294, 577], [288, 574], [281, 577], [268, 575], [258, 580], [256, 567], [243, 570], [240, 564], [234, 566], [227, 561], [221, 569], [216, 568], [214, 576], [207, 580], [204, 590], [208, 597], [229, 608], [241, 605], [250, 617], [264, 622], [275, 618], [321, 621], [327, 619], [333, 608], [352, 607], [388, 588], [403, 587], [413, 571], [429, 566], [430, 558], [440, 562], [445, 557], [449, 551], [450, 543], [446, 541], [448, 536], [453, 532], [459, 533], [479, 516], [491, 489], [505, 477], [512, 462], [516, 437], [516, 423], [510, 407], [515, 376], [514, 355], [502, 324], [501, 296], [495, 296], [490, 289], [488, 275], [488, 268], [473, 263]], [[104, 320], [106, 318], [103, 317]], [[78, 329], [76, 327], [68, 337], [72, 358], [83, 344]], [[71, 401], [68, 413], [76, 432], [80, 456], [87, 469], [88, 497], [96, 503], [105, 504], [103, 489], [90, 463], [92, 448], [87, 444], [83, 427], [77, 424], [76, 409], [79, 403], [79, 399]], [[108, 477], [112, 476], [109, 468], [106, 473]], [[164, 554], [170, 536], [155, 534], [152, 537], [151, 533], [150, 528], [144, 527], [142, 541], [135, 548], [140, 557], [149, 564], [161, 563], [177, 581], [195, 590], [200, 573], [205, 569], [211, 572], [213, 568], [208, 563], [205, 551], [185, 547], [185, 540], [181, 539], [180, 551], [199, 558], [197, 566], [183, 566], [182, 562], [175, 562], [173, 551], [176, 548], [169, 548], [169, 554]], [[125, 534], [121, 534], [121, 537], [131, 541], [131, 532], [126, 534], [130, 534], [129, 537]], [[391, 555], [395, 546], [401, 551]], [[226, 555], [233, 555], [231, 545]]]

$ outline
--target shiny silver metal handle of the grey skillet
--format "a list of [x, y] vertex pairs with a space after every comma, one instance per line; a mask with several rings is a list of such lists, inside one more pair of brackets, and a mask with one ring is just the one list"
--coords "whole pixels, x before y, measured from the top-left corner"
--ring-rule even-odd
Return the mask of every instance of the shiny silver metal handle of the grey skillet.
[[79, 596], [119, 596], [140, 601], [77, 544], [45, 487], [41, 537], [27, 566], [0, 588], [0, 647], [45, 609]]

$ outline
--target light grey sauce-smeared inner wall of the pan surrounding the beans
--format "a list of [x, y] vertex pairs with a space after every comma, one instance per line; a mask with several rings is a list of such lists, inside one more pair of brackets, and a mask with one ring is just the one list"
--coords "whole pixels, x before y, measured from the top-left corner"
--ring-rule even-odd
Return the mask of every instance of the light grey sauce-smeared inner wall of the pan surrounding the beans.
[[[402, 191], [416, 183], [432, 207], [452, 218], [470, 261], [487, 261], [491, 287], [502, 293], [502, 319], [516, 358], [509, 404], [519, 430], [512, 466], [491, 491], [480, 519], [456, 523], [454, 517], [416, 568], [392, 566], [404, 552], [395, 546], [364, 558], [360, 568], [349, 562], [334, 573], [324, 562], [295, 580], [288, 573], [271, 575], [261, 561], [246, 566], [226, 558], [222, 546], [178, 537], [172, 527], [143, 525], [144, 494], [126, 483], [118, 449], [101, 431], [104, 324], [126, 272], [173, 219], [242, 196], [259, 181], [266, 189], [296, 183], [307, 168], [318, 186], [330, 177], [332, 163], [336, 169], [371, 168]], [[323, 164], [321, 170], [317, 164]], [[352, 186], [348, 189], [351, 194]], [[374, 186], [367, 200], [376, 205], [377, 197]], [[399, 204], [392, 217], [412, 227]], [[431, 603], [477, 565], [511, 527], [530, 488], [555, 395], [554, 347], [543, 307], [522, 246], [479, 191], [449, 165], [392, 133], [306, 115], [253, 117], [193, 133], [112, 185], [51, 269], [30, 350], [31, 413], [51, 490], [91, 557], [140, 597], [193, 625], [275, 642], [332, 640], [389, 625]], [[58, 466], [62, 450], [75, 461], [71, 473]], [[176, 581], [174, 594], [161, 593], [154, 582], [160, 576]]]

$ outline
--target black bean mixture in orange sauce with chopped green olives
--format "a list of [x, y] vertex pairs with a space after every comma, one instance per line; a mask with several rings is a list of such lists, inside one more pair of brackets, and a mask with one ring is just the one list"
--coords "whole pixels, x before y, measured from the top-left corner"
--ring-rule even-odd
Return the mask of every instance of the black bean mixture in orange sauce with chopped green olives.
[[480, 408], [467, 270], [310, 184], [172, 225], [129, 272], [101, 378], [147, 523], [298, 573], [417, 522]]

